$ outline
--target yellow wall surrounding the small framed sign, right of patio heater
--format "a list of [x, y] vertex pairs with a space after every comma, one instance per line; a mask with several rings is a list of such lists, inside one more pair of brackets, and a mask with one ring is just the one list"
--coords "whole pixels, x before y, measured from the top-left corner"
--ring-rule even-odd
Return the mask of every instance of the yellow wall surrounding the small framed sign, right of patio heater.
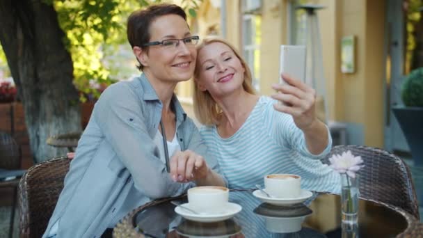
[[[365, 145], [383, 147], [384, 0], [320, 0], [329, 118], [363, 126]], [[356, 37], [356, 72], [340, 72], [340, 41]]]

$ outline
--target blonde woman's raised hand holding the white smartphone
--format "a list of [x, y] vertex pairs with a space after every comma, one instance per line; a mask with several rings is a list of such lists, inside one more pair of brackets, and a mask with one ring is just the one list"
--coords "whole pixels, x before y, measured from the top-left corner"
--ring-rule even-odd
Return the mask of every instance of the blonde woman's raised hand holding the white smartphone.
[[294, 118], [295, 125], [303, 132], [312, 127], [317, 121], [314, 104], [316, 102], [316, 91], [307, 84], [281, 74], [287, 84], [273, 84], [272, 88], [278, 93], [271, 95], [281, 103], [274, 104], [276, 111], [288, 113]]

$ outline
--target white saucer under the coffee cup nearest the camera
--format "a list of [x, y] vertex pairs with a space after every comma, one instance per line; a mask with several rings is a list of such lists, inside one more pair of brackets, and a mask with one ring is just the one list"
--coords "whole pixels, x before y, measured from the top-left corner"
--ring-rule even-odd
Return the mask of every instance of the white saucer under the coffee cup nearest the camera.
[[[188, 206], [189, 203], [184, 203], [181, 206]], [[182, 207], [175, 207], [175, 212], [182, 216], [184, 219], [190, 221], [199, 221], [199, 222], [215, 222], [215, 221], [224, 221], [230, 219], [232, 216], [235, 216], [238, 212], [241, 212], [242, 207], [237, 203], [228, 203], [224, 209], [225, 212], [218, 214], [194, 214]]]

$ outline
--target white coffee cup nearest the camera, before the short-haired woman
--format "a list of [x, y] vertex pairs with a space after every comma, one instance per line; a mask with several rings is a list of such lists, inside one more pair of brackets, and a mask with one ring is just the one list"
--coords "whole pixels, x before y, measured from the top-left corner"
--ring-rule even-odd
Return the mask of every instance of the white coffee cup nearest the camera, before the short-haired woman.
[[229, 201], [229, 189], [201, 186], [188, 189], [188, 205], [195, 212], [216, 214], [224, 212]]

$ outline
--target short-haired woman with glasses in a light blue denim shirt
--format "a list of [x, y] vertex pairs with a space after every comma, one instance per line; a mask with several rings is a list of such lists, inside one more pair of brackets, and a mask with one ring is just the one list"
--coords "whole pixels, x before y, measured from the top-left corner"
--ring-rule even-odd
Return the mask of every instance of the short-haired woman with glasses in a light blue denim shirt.
[[186, 15], [161, 4], [132, 13], [127, 37], [140, 77], [113, 84], [95, 104], [44, 237], [110, 236], [132, 209], [195, 185], [226, 186], [173, 94], [195, 67]]

